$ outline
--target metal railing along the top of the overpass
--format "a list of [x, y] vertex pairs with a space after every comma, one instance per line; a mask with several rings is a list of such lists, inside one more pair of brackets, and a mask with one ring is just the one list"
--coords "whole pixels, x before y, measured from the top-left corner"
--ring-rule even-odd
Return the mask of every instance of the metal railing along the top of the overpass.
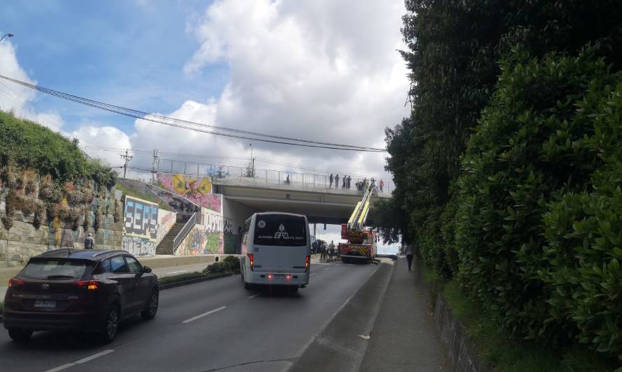
[[[365, 183], [370, 182], [372, 177], [351, 177], [348, 185], [343, 185], [342, 175], [339, 181], [335, 179], [331, 182], [328, 174], [311, 174], [299, 172], [287, 172], [282, 170], [252, 169], [247, 167], [234, 167], [229, 165], [215, 165], [208, 163], [193, 163], [188, 161], [175, 161], [170, 159], [159, 159], [157, 171], [171, 174], [186, 174], [198, 177], [214, 177], [216, 179], [252, 179], [256, 182], [268, 184], [295, 184], [315, 188], [336, 188], [358, 190], [365, 192]], [[380, 181], [383, 182], [382, 190]], [[375, 179], [376, 191], [380, 195], [391, 194], [393, 182], [384, 179]]]

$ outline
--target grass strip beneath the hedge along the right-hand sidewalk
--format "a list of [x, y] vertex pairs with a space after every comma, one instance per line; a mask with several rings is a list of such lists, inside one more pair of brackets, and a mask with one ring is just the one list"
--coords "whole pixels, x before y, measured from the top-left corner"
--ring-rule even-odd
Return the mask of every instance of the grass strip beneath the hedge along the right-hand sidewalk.
[[531, 341], [511, 338], [491, 315], [465, 295], [455, 279], [443, 283], [433, 269], [421, 266], [424, 279], [433, 292], [433, 301], [436, 294], [442, 292], [454, 316], [463, 323], [466, 334], [477, 345], [480, 357], [494, 371], [598, 372], [616, 369], [614, 361], [581, 345], [555, 350]]

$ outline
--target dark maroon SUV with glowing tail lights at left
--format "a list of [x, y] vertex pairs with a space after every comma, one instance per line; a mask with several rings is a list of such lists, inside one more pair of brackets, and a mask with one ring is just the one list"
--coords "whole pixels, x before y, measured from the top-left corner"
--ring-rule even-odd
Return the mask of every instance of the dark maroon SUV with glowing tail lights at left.
[[126, 251], [49, 251], [8, 282], [4, 327], [15, 341], [34, 331], [80, 329], [110, 342], [122, 319], [156, 315], [158, 288], [151, 269]]

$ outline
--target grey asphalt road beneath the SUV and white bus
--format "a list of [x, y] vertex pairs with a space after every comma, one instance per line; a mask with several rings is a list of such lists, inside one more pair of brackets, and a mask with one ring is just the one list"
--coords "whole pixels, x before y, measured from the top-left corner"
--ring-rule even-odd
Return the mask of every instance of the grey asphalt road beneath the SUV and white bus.
[[108, 345], [50, 332], [19, 345], [0, 329], [0, 371], [284, 370], [377, 268], [314, 263], [295, 295], [245, 290], [240, 276], [164, 290], [154, 320], [137, 315]]

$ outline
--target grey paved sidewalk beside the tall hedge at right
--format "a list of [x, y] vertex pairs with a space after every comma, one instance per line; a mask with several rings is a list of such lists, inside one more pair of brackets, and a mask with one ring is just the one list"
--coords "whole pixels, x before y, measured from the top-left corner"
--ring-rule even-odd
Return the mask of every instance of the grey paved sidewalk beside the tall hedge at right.
[[421, 278], [405, 257], [395, 265], [359, 371], [449, 371]]

